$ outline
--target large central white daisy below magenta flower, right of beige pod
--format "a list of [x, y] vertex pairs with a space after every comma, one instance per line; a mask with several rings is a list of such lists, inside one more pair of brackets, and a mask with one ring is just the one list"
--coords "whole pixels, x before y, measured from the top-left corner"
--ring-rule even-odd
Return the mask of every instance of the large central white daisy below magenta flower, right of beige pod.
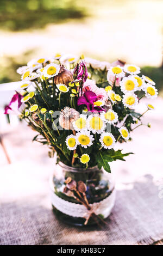
[[102, 133], [105, 129], [105, 121], [102, 115], [91, 114], [87, 118], [87, 128], [93, 133]]

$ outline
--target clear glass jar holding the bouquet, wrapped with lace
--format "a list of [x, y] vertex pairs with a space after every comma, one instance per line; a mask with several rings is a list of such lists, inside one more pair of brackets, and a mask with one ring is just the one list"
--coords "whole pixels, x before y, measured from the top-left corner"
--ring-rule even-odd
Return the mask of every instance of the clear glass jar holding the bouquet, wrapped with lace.
[[[85, 197], [91, 210], [87, 209], [78, 200], [80, 196], [82, 198], [83, 193], [79, 192], [77, 194], [77, 190], [70, 191], [67, 196], [67, 193], [65, 193], [67, 178], [75, 181], [77, 188], [79, 182], [84, 182]], [[50, 185], [53, 212], [59, 220], [67, 224], [85, 225], [86, 216], [90, 214], [90, 211], [95, 213], [98, 218], [95, 221], [95, 218], [92, 217], [93, 215], [90, 214], [86, 224], [95, 224], [97, 220], [101, 221], [110, 215], [115, 203], [115, 188], [111, 174], [104, 170], [99, 170], [97, 166], [87, 169], [74, 168], [59, 162], [50, 180]]]

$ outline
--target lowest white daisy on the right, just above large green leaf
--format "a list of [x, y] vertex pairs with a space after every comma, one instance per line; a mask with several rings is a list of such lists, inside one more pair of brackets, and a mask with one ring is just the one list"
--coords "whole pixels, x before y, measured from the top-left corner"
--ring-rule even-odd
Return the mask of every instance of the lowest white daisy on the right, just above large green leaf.
[[103, 132], [99, 141], [104, 149], [112, 149], [115, 146], [115, 137], [110, 132]]

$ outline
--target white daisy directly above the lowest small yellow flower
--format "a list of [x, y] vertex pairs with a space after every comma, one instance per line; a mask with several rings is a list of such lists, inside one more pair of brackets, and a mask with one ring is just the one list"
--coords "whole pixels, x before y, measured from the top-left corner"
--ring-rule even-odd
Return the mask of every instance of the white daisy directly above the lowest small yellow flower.
[[93, 144], [92, 141], [94, 141], [93, 135], [90, 135], [90, 131], [78, 132], [76, 134], [76, 138], [77, 144], [81, 145], [85, 149], [90, 147]]

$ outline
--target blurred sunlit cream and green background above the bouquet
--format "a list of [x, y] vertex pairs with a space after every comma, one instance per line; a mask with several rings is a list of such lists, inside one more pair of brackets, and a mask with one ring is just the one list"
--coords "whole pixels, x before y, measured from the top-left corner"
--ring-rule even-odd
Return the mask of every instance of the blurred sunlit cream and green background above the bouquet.
[[83, 53], [140, 65], [163, 95], [162, 1], [1, 0], [0, 21], [0, 83], [35, 56]]

